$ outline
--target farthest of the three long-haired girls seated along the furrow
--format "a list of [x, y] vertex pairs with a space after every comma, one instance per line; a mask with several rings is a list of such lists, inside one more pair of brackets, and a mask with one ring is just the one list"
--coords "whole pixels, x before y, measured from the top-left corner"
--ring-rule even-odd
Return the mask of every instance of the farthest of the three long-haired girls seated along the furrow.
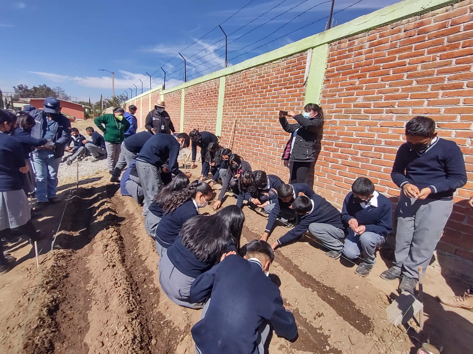
[[163, 205], [171, 200], [174, 192], [187, 186], [189, 186], [189, 177], [180, 173], [167, 186], [162, 184], [158, 187], [158, 193], [154, 196], [153, 202], [149, 204], [149, 212], [145, 219], [146, 232], [152, 239], [155, 238], [156, 229], [164, 214]]

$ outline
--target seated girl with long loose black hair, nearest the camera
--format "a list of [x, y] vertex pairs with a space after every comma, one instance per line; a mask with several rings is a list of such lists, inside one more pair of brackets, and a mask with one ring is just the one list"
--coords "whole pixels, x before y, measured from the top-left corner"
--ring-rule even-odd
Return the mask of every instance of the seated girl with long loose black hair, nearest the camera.
[[239, 251], [244, 221], [245, 215], [236, 205], [186, 221], [158, 264], [161, 289], [171, 301], [193, 309], [203, 307], [190, 299], [192, 283], [217, 265], [222, 255]]

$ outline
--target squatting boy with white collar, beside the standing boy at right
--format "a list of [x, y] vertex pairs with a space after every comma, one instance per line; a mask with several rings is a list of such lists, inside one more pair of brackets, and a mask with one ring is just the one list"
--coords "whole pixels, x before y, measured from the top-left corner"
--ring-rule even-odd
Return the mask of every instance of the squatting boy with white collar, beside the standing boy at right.
[[333, 239], [331, 250], [340, 252], [350, 259], [361, 255], [363, 262], [355, 272], [368, 276], [375, 264], [376, 248], [382, 245], [393, 230], [393, 206], [384, 195], [375, 191], [375, 185], [366, 177], [353, 182], [351, 192], [343, 201], [342, 221], [348, 236], [345, 244]]

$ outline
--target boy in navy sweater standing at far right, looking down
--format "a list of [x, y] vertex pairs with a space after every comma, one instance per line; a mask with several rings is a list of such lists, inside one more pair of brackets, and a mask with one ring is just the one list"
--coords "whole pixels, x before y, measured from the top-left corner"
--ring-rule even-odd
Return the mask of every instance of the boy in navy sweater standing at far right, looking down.
[[406, 143], [397, 150], [391, 178], [401, 188], [396, 207], [394, 266], [385, 280], [402, 281], [399, 291], [414, 292], [418, 267], [429, 265], [453, 208], [453, 194], [467, 181], [463, 153], [455, 142], [440, 139], [426, 116], [406, 124]]

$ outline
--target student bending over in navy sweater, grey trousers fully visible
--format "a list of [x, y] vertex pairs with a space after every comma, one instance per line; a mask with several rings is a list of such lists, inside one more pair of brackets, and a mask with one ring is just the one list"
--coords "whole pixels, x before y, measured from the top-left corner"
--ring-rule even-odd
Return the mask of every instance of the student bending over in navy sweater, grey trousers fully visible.
[[[177, 164], [177, 157], [179, 150], [187, 148], [189, 143], [189, 135], [186, 133], [179, 133], [176, 136], [154, 134], [141, 148], [140, 153], [136, 156], [136, 169], [145, 195], [143, 216], [148, 214], [149, 204], [158, 193], [160, 167], [169, 159], [168, 165], [171, 172], [175, 175], [182, 173]], [[191, 176], [190, 173], [186, 175], [187, 177]]]

